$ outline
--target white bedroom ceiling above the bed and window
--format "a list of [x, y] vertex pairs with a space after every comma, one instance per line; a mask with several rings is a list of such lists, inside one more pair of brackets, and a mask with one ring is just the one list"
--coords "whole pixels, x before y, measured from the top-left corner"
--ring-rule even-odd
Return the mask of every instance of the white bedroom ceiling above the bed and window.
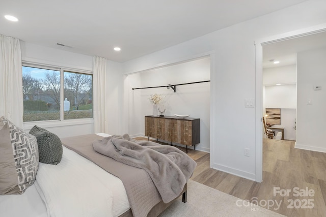
[[2, 0], [0, 34], [124, 62], [305, 1]]

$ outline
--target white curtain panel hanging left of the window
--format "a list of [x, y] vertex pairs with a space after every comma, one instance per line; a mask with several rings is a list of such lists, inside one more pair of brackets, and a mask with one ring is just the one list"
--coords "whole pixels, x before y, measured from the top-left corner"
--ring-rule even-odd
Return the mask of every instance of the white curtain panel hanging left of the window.
[[21, 50], [19, 39], [0, 35], [0, 117], [23, 127]]

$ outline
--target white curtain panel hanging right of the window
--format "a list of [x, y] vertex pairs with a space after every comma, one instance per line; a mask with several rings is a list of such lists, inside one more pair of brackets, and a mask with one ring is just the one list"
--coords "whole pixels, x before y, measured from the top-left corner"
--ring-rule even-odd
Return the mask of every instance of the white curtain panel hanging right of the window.
[[108, 108], [105, 96], [106, 89], [106, 58], [94, 56], [93, 58], [93, 112], [94, 133], [108, 132]]

